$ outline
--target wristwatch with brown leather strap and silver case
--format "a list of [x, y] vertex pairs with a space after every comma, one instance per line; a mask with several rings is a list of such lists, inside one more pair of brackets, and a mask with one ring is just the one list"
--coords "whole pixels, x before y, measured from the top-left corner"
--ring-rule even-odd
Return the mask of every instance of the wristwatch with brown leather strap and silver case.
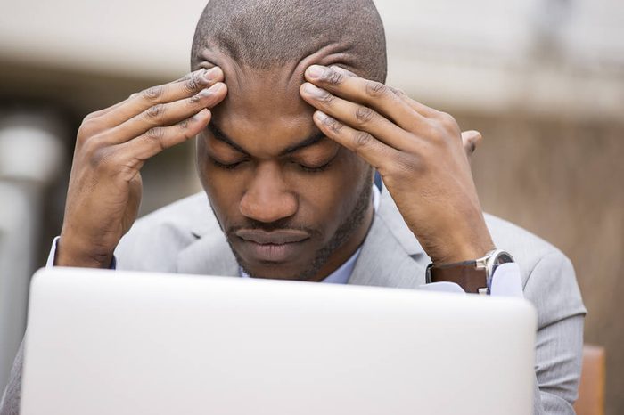
[[502, 249], [492, 249], [486, 256], [471, 261], [454, 264], [427, 266], [427, 283], [455, 282], [465, 292], [473, 294], [489, 294], [492, 285], [492, 275], [500, 264], [510, 263], [513, 256]]

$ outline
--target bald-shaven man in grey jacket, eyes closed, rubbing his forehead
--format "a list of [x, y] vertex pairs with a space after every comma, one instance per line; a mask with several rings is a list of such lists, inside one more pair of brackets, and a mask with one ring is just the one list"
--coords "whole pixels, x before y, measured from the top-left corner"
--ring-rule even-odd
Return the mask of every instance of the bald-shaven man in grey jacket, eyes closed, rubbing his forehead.
[[[212, 0], [192, 66], [86, 117], [53, 264], [417, 288], [430, 262], [450, 278], [503, 248], [538, 308], [535, 413], [573, 413], [585, 310], [571, 264], [484, 218], [455, 119], [383, 85], [370, 0]], [[205, 194], [127, 233], [144, 162], [195, 135]], [[3, 415], [20, 377], [21, 354]]]

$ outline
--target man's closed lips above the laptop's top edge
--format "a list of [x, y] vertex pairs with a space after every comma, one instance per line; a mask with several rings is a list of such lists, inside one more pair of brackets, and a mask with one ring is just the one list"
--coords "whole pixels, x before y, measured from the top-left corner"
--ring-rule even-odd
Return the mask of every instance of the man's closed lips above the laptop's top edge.
[[310, 239], [308, 232], [281, 230], [265, 232], [242, 229], [234, 232], [242, 241], [240, 254], [250, 262], [282, 263], [295, 259], [302, 244]]

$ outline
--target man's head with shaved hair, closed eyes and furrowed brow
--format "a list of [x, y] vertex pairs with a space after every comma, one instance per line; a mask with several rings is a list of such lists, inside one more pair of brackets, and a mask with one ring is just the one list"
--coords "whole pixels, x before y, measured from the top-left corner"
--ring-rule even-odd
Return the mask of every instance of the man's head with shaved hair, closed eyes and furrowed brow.
[[325, 138], [300, 98], [309, 65], [383, 82], [382, 22], [369, 0], [211, 0], [193, 69], [223, 69], [228, 94], [198, 137], [201, 183], [250, 274], [318, 280], [362, 242], [372, 169]]

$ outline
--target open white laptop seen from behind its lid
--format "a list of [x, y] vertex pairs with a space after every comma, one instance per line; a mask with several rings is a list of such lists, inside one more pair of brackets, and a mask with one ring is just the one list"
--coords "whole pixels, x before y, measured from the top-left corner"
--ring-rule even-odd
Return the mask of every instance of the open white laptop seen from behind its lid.
[[53, 268], [23, 415], [529, 415], [525, 300]]

